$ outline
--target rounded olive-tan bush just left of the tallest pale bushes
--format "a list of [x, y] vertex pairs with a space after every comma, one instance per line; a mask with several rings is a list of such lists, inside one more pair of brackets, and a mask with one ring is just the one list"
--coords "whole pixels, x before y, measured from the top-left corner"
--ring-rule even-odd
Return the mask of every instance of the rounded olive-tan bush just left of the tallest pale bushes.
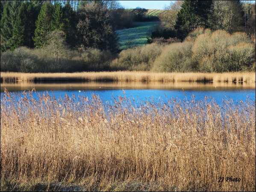
[[153, 71], [183, 72], [192, 70], [191, 48], [191, 42], [174, 43], [165, 46], [162, 54], [154, 62]]

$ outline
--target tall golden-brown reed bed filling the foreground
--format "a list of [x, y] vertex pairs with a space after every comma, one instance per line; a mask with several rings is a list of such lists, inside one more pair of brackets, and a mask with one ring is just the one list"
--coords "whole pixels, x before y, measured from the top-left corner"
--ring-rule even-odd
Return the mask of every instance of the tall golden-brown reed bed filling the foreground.
[[[1, 190], [33, 181], [45, 190], [255, 191], [255, 101], [134, 104], [124, 95], [103, 105], [95, 95], [24, 92], [17, 102], [5, 92]], [[241, 181], [218, 183], [231, 176]]]

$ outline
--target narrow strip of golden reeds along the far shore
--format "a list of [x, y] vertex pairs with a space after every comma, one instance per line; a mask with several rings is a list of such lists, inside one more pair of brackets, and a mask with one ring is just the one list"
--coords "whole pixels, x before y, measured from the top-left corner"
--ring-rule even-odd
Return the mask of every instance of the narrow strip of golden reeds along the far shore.
[[153, 73], [153, 72], [81, 72], [81, 73], [4, 73], [1, 82], [15, 81], [221, 81], [255, 82], [255, 73]]

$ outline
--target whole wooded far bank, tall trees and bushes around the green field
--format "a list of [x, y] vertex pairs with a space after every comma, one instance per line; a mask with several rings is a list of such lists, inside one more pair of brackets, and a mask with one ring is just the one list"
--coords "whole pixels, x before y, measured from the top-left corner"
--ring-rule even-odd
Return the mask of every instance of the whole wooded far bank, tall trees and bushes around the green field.
[[[170, 1], [150, 11], [111, 0], [3, 0], [0, 8], [4, 72], [255, 71], [255, 1]], [[117, 31], [152, 21], [147, 44], [121, 49]]]

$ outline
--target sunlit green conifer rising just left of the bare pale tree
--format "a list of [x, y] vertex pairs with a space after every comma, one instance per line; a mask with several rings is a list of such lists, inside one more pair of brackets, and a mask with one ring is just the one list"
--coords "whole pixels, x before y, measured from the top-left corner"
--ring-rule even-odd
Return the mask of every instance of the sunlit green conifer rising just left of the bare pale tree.
[[35, 22], [35, 47], [43, 47], [47, 42], [47, 35], [52, 29], [53, 5], [44, 3]]

